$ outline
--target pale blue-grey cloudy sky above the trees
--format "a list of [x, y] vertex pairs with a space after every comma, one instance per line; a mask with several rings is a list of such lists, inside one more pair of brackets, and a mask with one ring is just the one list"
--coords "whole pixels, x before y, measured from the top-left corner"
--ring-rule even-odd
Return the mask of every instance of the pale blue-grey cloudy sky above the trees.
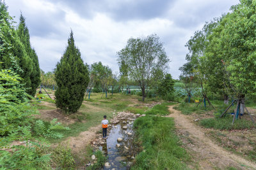
[[184, 46], [205, 21], [227, 13], [239, 0], [6, 0], [11, 16], [26, 18], [40, 67], [52, 71], [67, 46], [70, 29], [84, 62], [101, 61], [118, 71], [116, 52], [127, 39], [157, 34], [178, 78]]

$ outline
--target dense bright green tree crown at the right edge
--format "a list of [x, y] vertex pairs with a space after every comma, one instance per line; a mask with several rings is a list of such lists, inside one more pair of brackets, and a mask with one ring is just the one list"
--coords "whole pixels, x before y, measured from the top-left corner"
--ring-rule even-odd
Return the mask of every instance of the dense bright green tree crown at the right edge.
[[[220, 50], [215, 52], [222, 57], [231, 95], [255, 95], [255, 1], [241, 0], [232, 6], [232, 13], [221, 21], [220, 36], [216, 43]], [[216, 30], [216, 31], [218, 31]]]

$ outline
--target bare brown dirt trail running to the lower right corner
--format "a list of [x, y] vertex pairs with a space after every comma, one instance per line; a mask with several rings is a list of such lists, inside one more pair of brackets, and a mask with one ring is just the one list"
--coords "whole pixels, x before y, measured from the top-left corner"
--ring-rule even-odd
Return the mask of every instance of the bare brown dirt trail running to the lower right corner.
[[171, 114], [166, 117], [173, 117], [177, 131], [185, 134], [192, 141], [193, 145], [187, 145], [186, 148], [193, 152], [192, 157], [200, 166], [199, 169], [225, 169], [227, 167], [256, 169], [255, 163], [216, 145], [211, 138], [205, 136], [205, 129], [193, 124], [193, 120], [189, 120], [188, 116], [174, 110], [173, 106], [170, 106], [169, 110]]

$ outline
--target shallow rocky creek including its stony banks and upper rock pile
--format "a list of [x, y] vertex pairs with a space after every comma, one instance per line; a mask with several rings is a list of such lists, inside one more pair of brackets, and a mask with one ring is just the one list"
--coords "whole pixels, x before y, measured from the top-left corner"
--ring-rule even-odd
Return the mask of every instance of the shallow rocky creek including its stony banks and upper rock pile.
[[141, 116], [144, 115], [117, 113], [108, 127], [108, 139], [102, 139], [102, 134], [99, 134], [98, 138], [93, 141], [95, 149], [102, 150], [107, 157], [102, 169], [117, 170], [131, 167], [135, 155], [139, 152], [139, 147], [134, 142], [132, 127], [134, 120]]

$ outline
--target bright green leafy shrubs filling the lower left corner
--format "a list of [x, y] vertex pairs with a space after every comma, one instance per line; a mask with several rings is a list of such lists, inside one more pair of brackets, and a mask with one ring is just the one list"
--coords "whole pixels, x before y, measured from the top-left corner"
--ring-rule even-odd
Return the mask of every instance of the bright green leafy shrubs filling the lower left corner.
[[[49, 154], [42, 152], [44, 145], [29, 141], [31, 115], [36, 109], [29, 104], [20, 80], [11, 70], [0, 71], [1, 168], [49, 169]], [[23, 145], [15, 145], [15, 141], [22, 141]]]

